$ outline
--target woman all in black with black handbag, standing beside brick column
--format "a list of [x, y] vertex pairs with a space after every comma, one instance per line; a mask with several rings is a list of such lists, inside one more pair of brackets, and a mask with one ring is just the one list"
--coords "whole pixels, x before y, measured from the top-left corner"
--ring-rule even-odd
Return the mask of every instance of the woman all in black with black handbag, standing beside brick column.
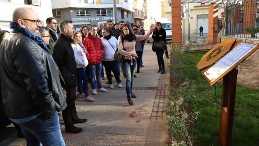
[[155, 28], [155, 31], [152, 35], [152, 38], [154, 40], [152, 50], [157, 54], [157, 62], [159, 66], [159, 70], [157, 73], [161, 72], [163, 74], [165, 73], [165, 61], [163, 59], [164, 52], [166, 57], [169, 58], [165, 39], [166, 32], [165, 29], [163, 29], [160, 22], [157, 22], [156, 25], [157, 27]]

